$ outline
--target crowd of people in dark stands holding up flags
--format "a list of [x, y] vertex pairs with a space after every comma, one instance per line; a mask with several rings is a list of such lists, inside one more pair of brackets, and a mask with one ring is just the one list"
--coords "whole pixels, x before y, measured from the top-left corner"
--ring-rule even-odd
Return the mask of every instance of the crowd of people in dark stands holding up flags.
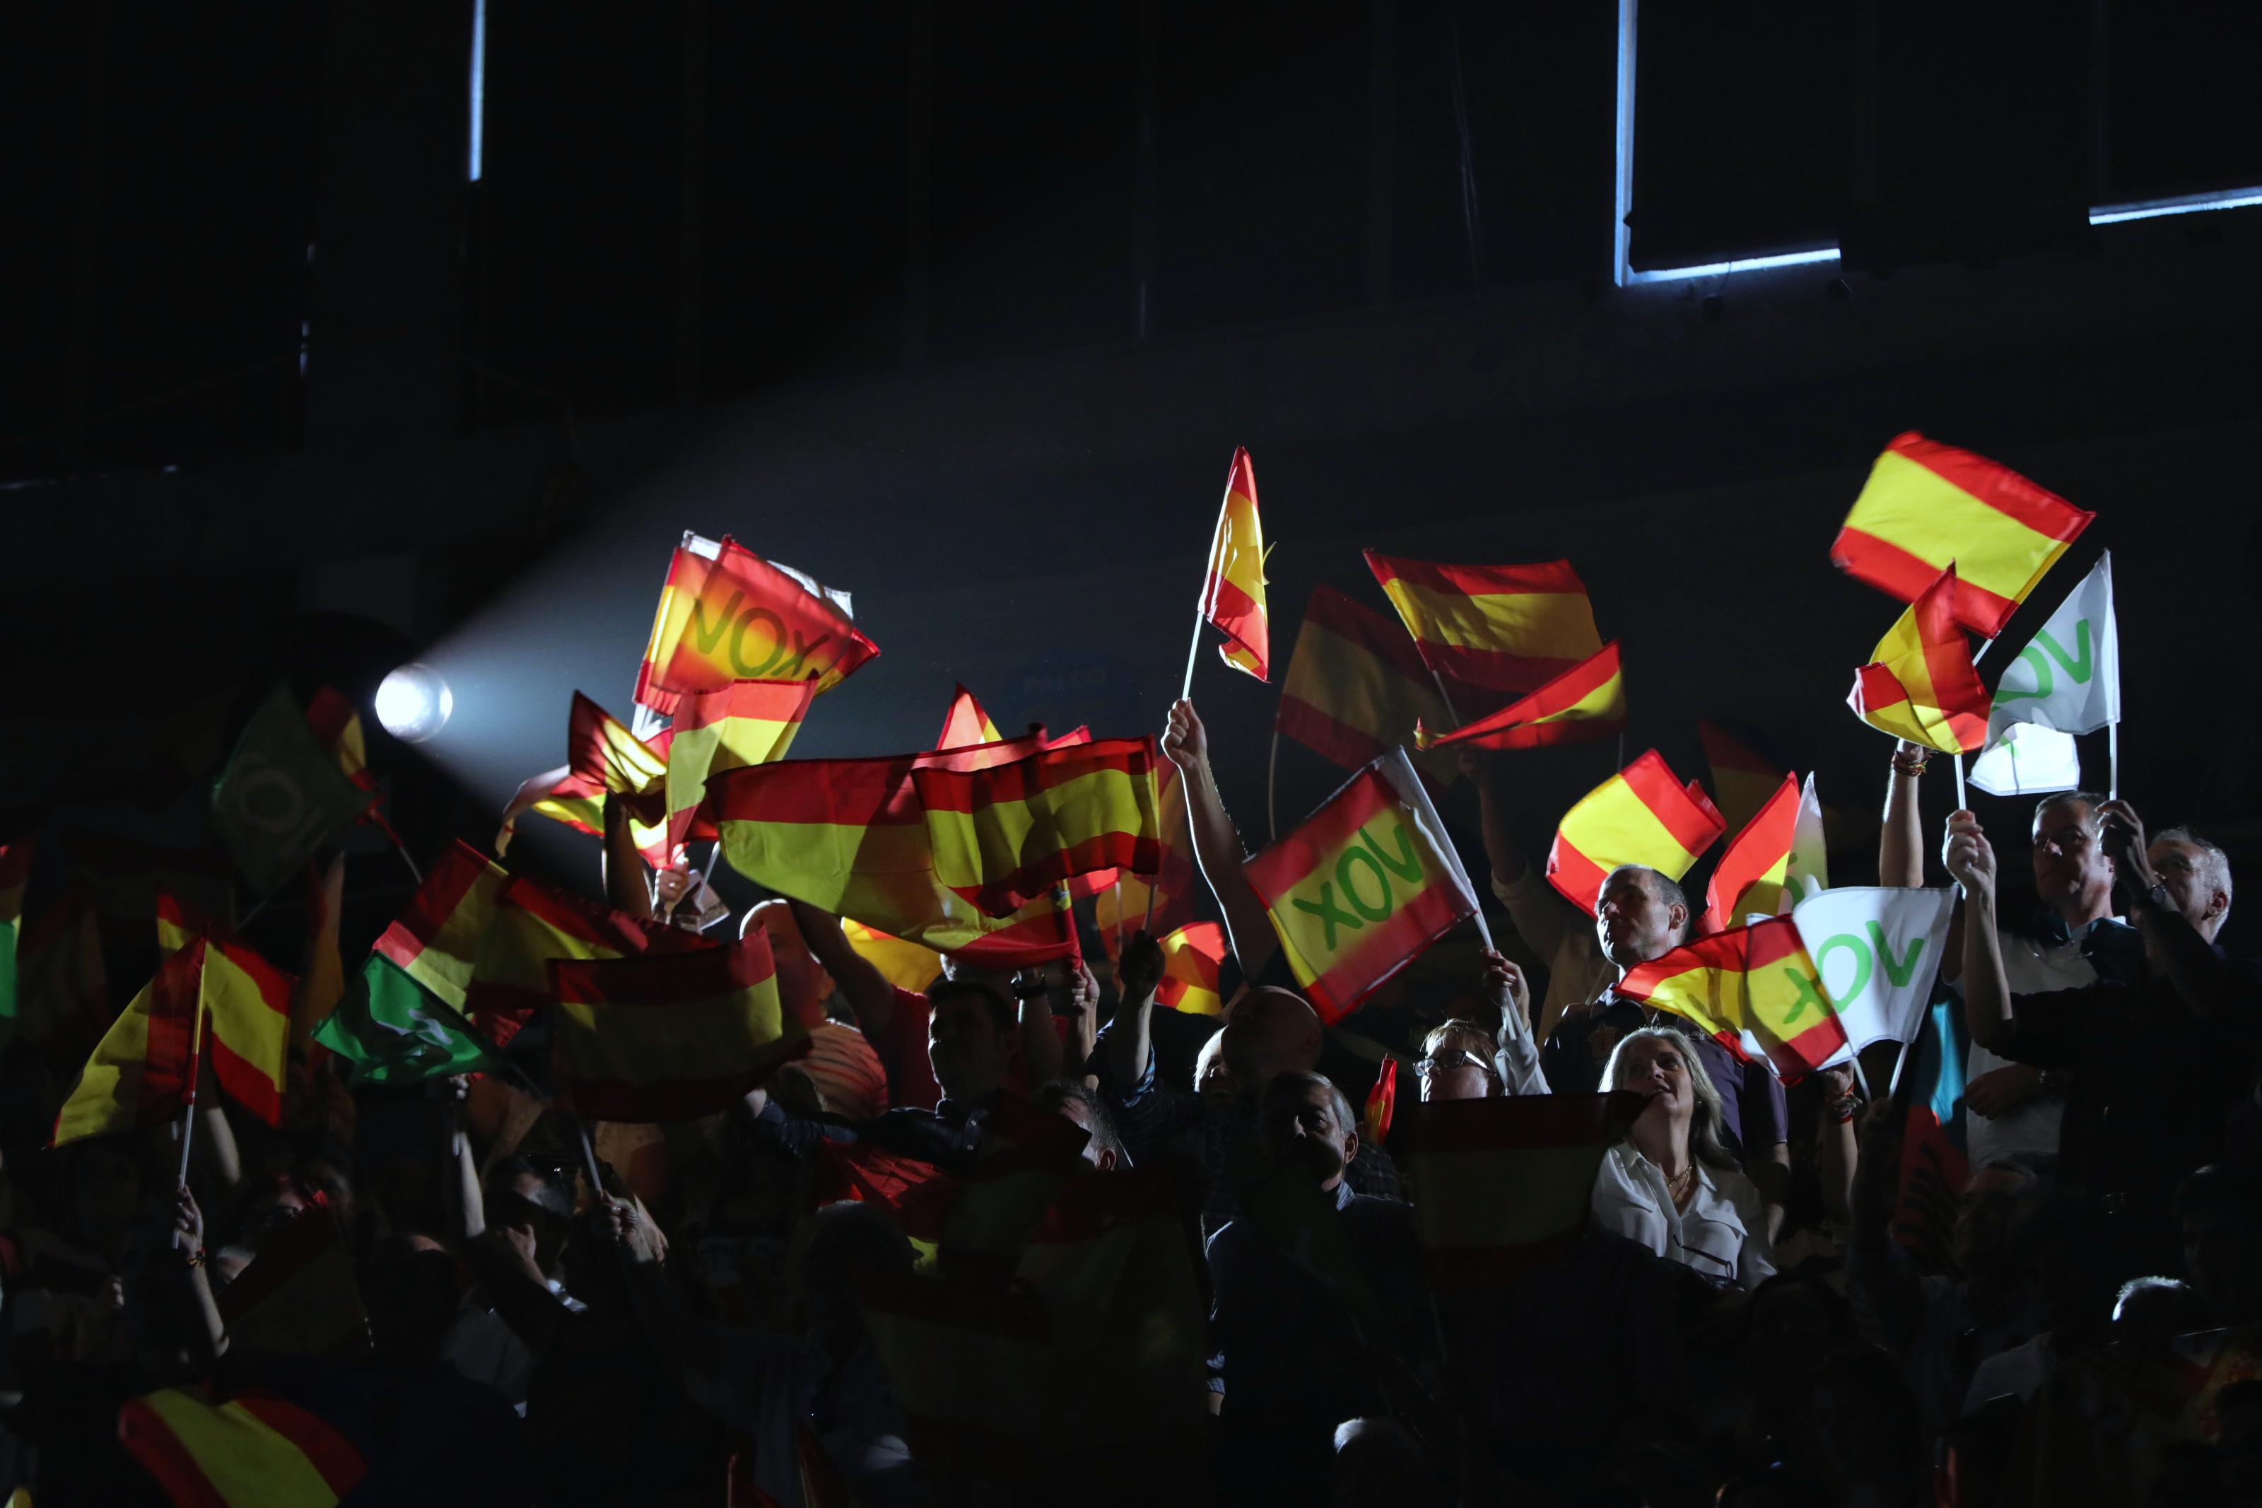
[[[1452, 968], [1323, 1026], [1190, 703], [1163, 753], [1231, 938], [1221, 1017], [1156, 1006], [1145, 931], [1113, 968], [941, 961], [907, 990], [839, 918], [769, 900], [735, 925], [767, 931], [810, 1051], [726, 1115], [586, 1144], [507, 1076], [348, 1090], [296, 1049], [283, 1128], [206, 1094], [185, 1178], [170, 1124], [45, 1149], [70, 1067], [11, 1049], [0, 1488], [167, 1501], [120, 1418], [206, 1384], [351, 1418], [344, 1501], [2262, 1506], [2262, 970], [2217, 941], [2233, 877], [2203, 834], [2067, 791], [1997, 855], [1968, 812], [1925, 834], [1923, 751], [1891, 755], [1880, 882], [1961, 889], [1927, 1051], [1963, 1176], [1925, 1241], [1898, 1045], [1785, 1085], [1620, 995], [1690, 936], [1687, 893], [1622, 866], [1581, 913], [1518, 850], [1545, 814], [1511, 809], [1497, 755], [1461, 766], [1502, 947], [1448, 941]], [[697, 875], [611, 850], [615, 907], [731, 925]], [[2018, 864], [2034, 916], [2004, 902]], [[1436, 1293], [1359, 1108], [1387, 1058], [1423, 1101], [1638, 1094], [1583, 1230]], [[1167, 1180], [1194, 1366], [1072, 1375], [1136, 1404], [1099, 1427], [1047, 1399], [1059, 1431], [1011, 1429], [966, 1370], [952, 1433], [871, 1295], [1027, 1286], [907, 1210], [918, 1169], [1016, 1176], [1029, 1108], [1083, 1137], [1070, 1182]], [[271, 1262], [310, 1230], [330, 1257]]]

